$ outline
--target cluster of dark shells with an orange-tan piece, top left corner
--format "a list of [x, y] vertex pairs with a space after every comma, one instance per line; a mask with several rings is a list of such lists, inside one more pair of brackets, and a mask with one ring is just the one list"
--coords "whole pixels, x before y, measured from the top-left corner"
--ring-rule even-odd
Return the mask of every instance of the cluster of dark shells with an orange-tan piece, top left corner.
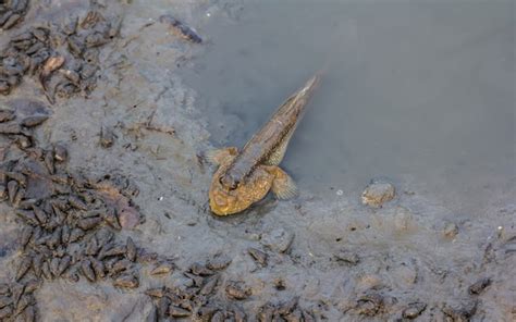
[[100, 69], [99, 48], [119, 35], [121, 23], [121, 17], [107, 18], [93, 8], [82, 18], [15, 35], [0, 54], [0, 94], [9, 95], [27, 75], [39, 81], [50, 102], [56, 96], [88, 96]]

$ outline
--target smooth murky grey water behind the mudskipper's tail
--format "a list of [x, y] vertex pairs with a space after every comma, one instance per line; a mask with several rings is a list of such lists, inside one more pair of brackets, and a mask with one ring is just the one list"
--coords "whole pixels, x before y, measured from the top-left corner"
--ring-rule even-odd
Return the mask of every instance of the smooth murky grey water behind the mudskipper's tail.
[[[410, 1], [411, 2], [411, 1]], [[244, 1], [184, 71], [214, 145], [245, 144], [315, 71], [323, 83], [283, 165], [304, 190], [410, 182], [478, 214], [515, 178], [512, 1]]]

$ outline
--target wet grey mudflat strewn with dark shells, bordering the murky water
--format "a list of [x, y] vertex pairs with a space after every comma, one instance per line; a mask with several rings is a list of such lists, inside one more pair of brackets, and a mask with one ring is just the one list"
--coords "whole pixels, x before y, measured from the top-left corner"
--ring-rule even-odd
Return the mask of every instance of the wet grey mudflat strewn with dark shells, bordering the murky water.
[[[210, 213], [204, 153], [268, 112], [210, 106], [218, 87], [192, 73], [210, 79], [217, 25], [245, 29], [256, 8], [151, 2], [0, 7], [23, 16], [0, 35], [0, 321], [515, 319], [514, 172], [475, 212], [371, 171], [360, 188], [302, 181], [294, 200]], [[291, 91], [274, 84], [254, 86], [270, 111]]]

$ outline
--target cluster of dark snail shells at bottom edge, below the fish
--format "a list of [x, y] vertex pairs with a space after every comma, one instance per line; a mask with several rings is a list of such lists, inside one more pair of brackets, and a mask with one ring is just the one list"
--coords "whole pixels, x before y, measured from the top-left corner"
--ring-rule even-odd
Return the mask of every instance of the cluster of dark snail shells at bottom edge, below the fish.
[[[223, 268], [211, 270], [208, 265], [193, 264], [183, 272], [187, 280], [181, 285], [147, 289], [145, 294], [153, 301], [147, 321], [171, 318], [189, 318], [192, 321], [316, 321], [312, 312], [298, 306], [297, 297], [286, 302], [267, 302], [254, 312], [244, 310], [243, 302], [251, 295], [251, 288], [239, 281], [223, 283]], [[197, 273], [193, 273], [193, 269]]]

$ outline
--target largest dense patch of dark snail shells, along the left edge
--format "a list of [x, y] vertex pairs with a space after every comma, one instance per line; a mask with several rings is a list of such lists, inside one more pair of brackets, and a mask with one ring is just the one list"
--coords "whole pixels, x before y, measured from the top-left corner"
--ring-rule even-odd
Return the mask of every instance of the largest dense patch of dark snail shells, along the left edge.
[[[83, 277], [91, 283], [110, 280], [120, 288], [138, 287], [138, 258], [148, 253], [131, 238], [125, 243], [115, 238], [122, 228], [120, 200], [124, 210], [137, 212], [131, 201], [137, 187], [121, 175], [98, 178], [70, 170], [64, 146], [35, 144], [33, 128], [48, 119], [41, 114], [46, 107], [28, 100], [8, 106], [0, 111], [0, 134], [11, 141], [0, 164], [0, 196], [11, 206], [5, 215], [23, 228], [13, 282], [0, 285], [2, 321], [16, 317], [36, 321], [33, 293], [44, 281]], [[19, 145], [21, 137], [29, 144]]]

